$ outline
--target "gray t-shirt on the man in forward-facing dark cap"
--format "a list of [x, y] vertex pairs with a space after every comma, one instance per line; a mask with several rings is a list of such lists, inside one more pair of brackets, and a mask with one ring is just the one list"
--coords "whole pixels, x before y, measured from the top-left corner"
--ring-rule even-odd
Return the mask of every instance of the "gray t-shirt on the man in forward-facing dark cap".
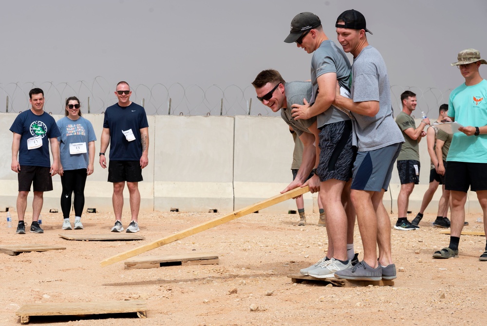
[[[318, 96], [318, 77], [327, 73], [336, 73], [340, 86], [346, 88], [347, 90], [350, 89], [350, 61], [345, 55], [345, 52], [338, 48], [337, 45], [331, 40], [321, 42], [318, 49], [313, 52], [313, 58], [311, 59], [311, 82], [313, 83], [313, 96], [309, 102], [310, 104], [314, 103], [316, 97]], [[336, 109], [333, 105], [328, 110], [317, 116], [318, 128], [330, 123], [345, 120], [350, 120], [350, 117], [342, 111]]]

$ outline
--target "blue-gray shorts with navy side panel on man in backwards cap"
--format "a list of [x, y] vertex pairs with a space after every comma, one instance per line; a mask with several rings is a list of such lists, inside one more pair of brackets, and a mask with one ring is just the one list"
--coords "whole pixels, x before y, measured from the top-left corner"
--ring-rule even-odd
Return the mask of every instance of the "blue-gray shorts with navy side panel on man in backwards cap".
[[401, 152], [402, 143], [389, 145], [375, 151], [358, 152], [354, 163], [351, 189], [379, 192], [387, 191], [394, 162]]

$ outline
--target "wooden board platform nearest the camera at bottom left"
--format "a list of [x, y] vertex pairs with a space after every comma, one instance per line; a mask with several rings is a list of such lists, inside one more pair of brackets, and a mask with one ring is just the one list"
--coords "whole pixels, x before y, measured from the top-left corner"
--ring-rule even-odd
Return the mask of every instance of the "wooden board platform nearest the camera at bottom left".
[[146, 318], [145, 300], [75, 302], [23, 305], [16, 311], [20, 323], [28, 323], [31, 316], [83, 316], [110, 313], [136, 312], [139, 318]]

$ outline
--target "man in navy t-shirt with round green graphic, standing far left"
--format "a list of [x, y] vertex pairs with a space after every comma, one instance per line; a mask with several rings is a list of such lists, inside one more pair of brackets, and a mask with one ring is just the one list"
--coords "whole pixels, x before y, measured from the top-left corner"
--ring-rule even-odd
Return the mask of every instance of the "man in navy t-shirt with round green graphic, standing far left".
[[[39, 214], [44, 202], [44, 192], [53, 190], [52, 176], [58, 171], [59, 146], [57, 137], [61, 134], [56, 120], [44, 112], [44, 92], [33, 88], [29, 92], [31, 109], [17, 115], [10, 127], [14, 134], [12, 140], [12, 171], [18, 173], [19, 194], [17, 196], [17, 215], [19, 224], [17, 234], [25, 234], [24, 215], [27, 208], [27, 195], [34, 183], [32, 201], [32, 225], [30, 231], [43, 233], [39, 226]], [[49, 157], [49, 143], [53, 153], [53, 164]]]

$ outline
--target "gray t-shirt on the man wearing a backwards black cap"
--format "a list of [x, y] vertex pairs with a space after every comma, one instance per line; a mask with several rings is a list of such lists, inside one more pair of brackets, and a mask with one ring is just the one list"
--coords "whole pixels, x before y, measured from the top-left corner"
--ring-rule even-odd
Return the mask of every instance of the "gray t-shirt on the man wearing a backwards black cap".
[[370, 45], [354, 58], [351, 92], [354, 102], [379, 101], [379, 112], [375, 116], [353, 113], [359, 152], [404, 142], [393, 117], [386, 64]]

